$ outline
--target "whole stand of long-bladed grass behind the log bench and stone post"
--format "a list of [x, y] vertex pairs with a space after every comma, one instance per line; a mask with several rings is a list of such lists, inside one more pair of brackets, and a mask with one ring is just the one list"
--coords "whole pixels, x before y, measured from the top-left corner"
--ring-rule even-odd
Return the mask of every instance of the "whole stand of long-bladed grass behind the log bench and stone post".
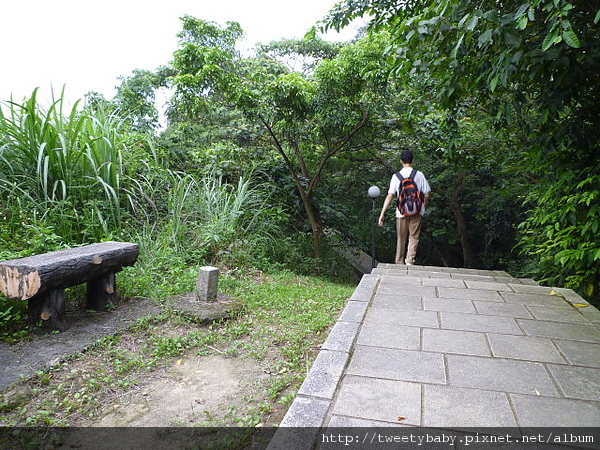
[[[0, 258], [130, 240], [141, 253], [121, 294], [153, 298], [192, 290], [198, 265], [285, 260], [287, 212], [271, 201], [271, 185], [251, 174], [228, 173], [230, 183], [214, 171], [198, 179], [170, 170], [161, 149], [116, 117], [75, 107], [65, 116], [62, 98], [44, 111], [35, 94], [0, 117]], [[23, 315], [5, 309], [3, 330], [18, 328]]]

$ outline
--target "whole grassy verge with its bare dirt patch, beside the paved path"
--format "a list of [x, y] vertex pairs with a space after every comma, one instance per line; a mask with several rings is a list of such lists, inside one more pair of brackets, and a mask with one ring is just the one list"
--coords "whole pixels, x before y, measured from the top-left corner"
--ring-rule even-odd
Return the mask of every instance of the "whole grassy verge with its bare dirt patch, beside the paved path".
[[[163, 407], [158, 422], [145, 423], [278, 424], [354, 286], [288, 272], [220, 283], [239, 302], [234, 317], [201, 325], [166, 303], [165, 312], [13, 385], [5, 394], [22, 395], [0, 400], [0, 425], [129, 426], [169, 402], [171, 416]], [[180, 400], [161, 397], [176, 391]]]

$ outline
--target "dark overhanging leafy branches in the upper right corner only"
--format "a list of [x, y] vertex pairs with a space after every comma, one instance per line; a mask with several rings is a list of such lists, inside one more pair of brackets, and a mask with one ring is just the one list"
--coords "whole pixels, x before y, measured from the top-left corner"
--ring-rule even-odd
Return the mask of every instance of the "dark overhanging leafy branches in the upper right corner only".
[[[579, 149], [571, 156], [593, 163], [600, 46], [592, 3], [445, 0], [396, 9], [393, 2], [348, 0], [326, 26], [366, 13], [372, 28], [392, 33], [388, 54], [400, 77], [432, 77], [433, 94], [450, 107], [478, 97], [498, 120], [524, 125], [532, 152], [558, 156], [569, 139]], [[516, 114], [524, 108], [529, 117]]]

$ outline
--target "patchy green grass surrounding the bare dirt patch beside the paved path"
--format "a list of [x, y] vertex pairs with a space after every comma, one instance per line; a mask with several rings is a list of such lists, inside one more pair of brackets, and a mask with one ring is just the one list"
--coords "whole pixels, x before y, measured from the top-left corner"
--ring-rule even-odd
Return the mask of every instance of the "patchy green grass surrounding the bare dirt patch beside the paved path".
[[0, 425], [77, 425], [139, 389], [158, 369], [190, 354], [252, 358], [271, 375], [257, 381], [243, 404], [196, 425], [268, 423], [273, 411], [285, 411], [291, 404], [353, 289], [291, 272], [222, 275], [220, 290], [243, 305], [238, 316], [206, 327], [170, 310], [142, 319], [86, 353], [23, 381], [21, 386], [32, 389], [33, 397], [18, 406], [0, 400]]

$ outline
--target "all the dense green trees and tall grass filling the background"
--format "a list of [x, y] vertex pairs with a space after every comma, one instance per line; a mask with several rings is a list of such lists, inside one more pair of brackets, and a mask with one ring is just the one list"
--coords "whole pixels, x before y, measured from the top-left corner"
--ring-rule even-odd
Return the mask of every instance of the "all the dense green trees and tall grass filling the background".
[[[386, 192], [399, 154], [412, 149], [432, 186], [417, 263], [507, 270], [598, 304], [597, 6], [401, 4], [341, 1], [319, 26], [368, 16], [354, 41], [323, 41], [315, 28], [250, 56], [237, 50], [239, 24], [184, 16], [172, 62], [123, 76], [114, 99], [90, 92], [67, 109], [64, 95], [44, 106], [34, 90], [2, 102], [0, 258], [137, 242], [121, 292], [157, 301], [192, 290], [206, 264], [347, 288], [352, 273], [335, 248], [369, 251], [367, 189]], [[164, 118], [159, 90], [170, 95]], [[380, 261], [392, 260], [394, 235], [390, 221], [378, 230]], [[318, 333], [341, 294], [282, 316], [277, 298], [304, 295], [286, 283], [259, 300], [254, 289], [268, 289], [249, 288], [247, 315], [212, 330], [210, 342], [239, 330], [266, 345], [289, 331], [285, 361], [299, 364], [307, 336], [288, 319]], [[0, 298], [4, 336], [22, 335], [25, 307]], [[270, 322], [289, 330], [261, 328]], [[167, 346], [209, 342], [181, 339]]]

